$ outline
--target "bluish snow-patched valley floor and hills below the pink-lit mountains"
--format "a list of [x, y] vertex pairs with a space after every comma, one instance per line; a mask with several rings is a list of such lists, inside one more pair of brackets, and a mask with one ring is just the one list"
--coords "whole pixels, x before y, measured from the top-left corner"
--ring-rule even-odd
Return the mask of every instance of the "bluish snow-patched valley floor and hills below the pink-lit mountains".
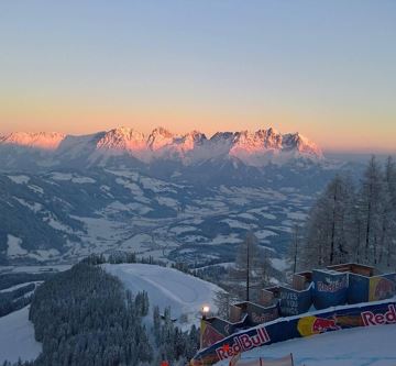
[[[75, 263], [92, 253], [121, 249], [205, 266], [211, 259], [233, 260], [228, 247], [241, 243], [246, 230], [255, 233], [262, 246], [282, 254], [295, 221], [302, 219], [312, 200], [292, 187], [274, 190], [231, 182], [195, 187], [124, 167], [100, 174], [65, 169], [6, 177], [8, 207], [20, 212], [30, 233], [20, 232], [18, 220], [6, 233], [7, 248], [1, 254], [15, 263]], [[44, 248], [31, 242], [43, 231], [57, 236], [58, 244]]]

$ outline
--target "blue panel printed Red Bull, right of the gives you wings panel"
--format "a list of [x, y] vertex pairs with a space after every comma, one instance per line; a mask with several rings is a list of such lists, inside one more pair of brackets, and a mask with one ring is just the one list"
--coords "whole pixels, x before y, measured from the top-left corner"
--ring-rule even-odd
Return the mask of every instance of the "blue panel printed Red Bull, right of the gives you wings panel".
[[348, 274], [330, 270], [312, 270], [312, 297], [316, 309], [321, 310], [346, 303]]

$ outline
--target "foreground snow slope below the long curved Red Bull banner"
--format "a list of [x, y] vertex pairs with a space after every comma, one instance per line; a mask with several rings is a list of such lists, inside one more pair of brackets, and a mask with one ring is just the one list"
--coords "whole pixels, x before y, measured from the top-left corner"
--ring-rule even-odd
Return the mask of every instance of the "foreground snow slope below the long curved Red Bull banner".
[[[274, 343], [242, 353], [241, 359], [273, 359], [289, 353], [296, 366], [396, 366], [396, 324], [354, 328]], [[216, 365], [226, 366], [228, 362]]]

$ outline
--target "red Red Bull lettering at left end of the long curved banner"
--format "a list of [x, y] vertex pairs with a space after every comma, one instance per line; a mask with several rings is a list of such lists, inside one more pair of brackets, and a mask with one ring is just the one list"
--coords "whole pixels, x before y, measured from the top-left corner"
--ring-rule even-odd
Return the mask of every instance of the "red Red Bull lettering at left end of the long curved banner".
[[256, 334], [241, 334], [232, 339], [232, 345], [224, 344], [216, 348], [219, 359], [232, 357], [241, 352], [258, 347], [271, 341], [270, 335], [264, 326], [256, 330]]

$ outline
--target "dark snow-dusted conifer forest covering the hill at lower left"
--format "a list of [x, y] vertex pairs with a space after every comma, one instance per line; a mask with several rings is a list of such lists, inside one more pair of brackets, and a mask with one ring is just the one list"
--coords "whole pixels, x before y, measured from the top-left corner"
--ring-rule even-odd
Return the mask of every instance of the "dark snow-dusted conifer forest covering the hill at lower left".
[[133, 296], [122, 282], [90, 256], [69, 270], [54, 275], [36, 289], [30, 309], [35, 339], [43, 351], [34, 362], [4, 366], [46, 365], [185, 365], [199, 347], [199, 331], [174, 325], [170, 308], [153, 310], [153, 326], [143, 318], [150, 312], [146, 291]]

